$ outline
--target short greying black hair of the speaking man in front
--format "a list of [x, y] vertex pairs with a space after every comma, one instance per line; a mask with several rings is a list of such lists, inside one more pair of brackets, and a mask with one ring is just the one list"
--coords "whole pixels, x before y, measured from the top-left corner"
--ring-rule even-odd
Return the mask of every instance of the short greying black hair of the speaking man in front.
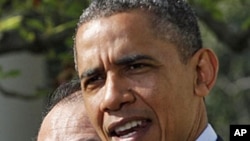
[[[196, 15], [185, 0], [92, 0], [80, 16], [76, 32], [82, 24], [91, 20], [134, 9], [142, 9], [151, 15], [156, 37], [177, 45], [182, 62], [186, 63], [202, 47]], [[75, 48], [74, 45], [77, 68]]]

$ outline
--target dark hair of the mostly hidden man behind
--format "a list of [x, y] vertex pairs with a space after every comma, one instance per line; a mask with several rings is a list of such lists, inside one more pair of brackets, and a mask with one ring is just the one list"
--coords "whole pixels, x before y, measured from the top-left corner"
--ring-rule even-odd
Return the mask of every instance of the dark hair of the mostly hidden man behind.
[[51, 111], [51, 109], [53, 109], [56, 104], [80, 90], [81, 85], [79, 79], [73, 79], [69, 82], [59, 85], [58, 88], [56, 88], [56, 90], [48, 97], [48, 103], [44, 112], [44, 117], [49, 111]]

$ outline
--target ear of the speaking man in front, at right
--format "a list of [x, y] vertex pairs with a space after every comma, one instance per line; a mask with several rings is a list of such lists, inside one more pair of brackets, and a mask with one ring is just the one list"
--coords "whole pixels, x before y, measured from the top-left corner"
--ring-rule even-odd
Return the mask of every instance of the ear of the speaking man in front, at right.
[[218, 73], [218, 60], [215, 53], [207, 48], [202, 48], [195, 53], [196, 77], [194, 93], [197, 96], [208, 95], [214, 86]]

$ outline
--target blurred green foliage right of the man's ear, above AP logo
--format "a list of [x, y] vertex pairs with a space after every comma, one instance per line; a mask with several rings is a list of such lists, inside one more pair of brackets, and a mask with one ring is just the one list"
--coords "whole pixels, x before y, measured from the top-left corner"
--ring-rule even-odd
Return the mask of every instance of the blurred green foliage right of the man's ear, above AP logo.
[[190, 2], [200, 19], [204, 46], [220, 62], [217, 83], [206, 98], [209, 121], [229, 140], [230, 124], [250, 124], [250, 1]]

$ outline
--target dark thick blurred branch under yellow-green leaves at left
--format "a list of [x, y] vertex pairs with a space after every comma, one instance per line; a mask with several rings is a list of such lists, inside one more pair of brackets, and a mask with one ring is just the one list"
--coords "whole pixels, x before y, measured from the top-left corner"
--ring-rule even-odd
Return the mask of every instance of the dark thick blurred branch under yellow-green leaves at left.
[[35, 54], [46, 53], [49, 49], [62, 48], [68, 37], [71, 37], [74, 29], [69, 28], [60, 33], [49, 36], [36, 34], [35, 40], [27, 42], [19, 36], [17, 31], [3, 33], [0, 39], [0, 55], [12, 52], [28, 51]]

